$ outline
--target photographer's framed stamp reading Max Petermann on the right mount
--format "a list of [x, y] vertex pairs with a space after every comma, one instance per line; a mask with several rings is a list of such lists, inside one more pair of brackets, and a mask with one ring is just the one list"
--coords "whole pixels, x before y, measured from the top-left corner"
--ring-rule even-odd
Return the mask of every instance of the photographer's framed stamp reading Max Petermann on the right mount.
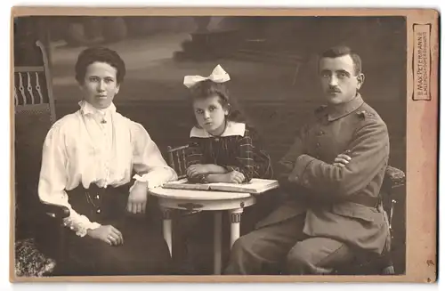
[[431, 25], [414, 24], [413, 100], [431, 100]]

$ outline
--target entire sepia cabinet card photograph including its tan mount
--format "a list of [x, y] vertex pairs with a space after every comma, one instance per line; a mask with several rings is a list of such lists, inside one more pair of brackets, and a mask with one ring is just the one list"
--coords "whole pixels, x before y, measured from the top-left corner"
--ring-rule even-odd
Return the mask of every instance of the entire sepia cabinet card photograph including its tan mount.
[[14, 9], [12, 281], [436, 280], [433, 10]]

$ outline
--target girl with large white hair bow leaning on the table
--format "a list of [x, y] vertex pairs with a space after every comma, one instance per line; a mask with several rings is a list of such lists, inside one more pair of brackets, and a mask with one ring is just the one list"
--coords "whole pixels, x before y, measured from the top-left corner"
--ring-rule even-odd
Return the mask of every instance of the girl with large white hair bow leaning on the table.
[[[193, 79], [198, 78], [198, 82]], [[190, 131], [187, 176], [191, 182], [249, 182], [271, 179], [271, 158], [254, 127], [247, 125], [224, 85], [229, 75], [217, 66], [212, 75], [185, 77], [197, 125]]]

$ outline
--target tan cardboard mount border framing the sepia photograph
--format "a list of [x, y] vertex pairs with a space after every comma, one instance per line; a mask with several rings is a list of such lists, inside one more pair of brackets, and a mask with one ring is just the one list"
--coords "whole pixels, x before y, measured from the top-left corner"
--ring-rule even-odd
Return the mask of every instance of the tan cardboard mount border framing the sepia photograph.
[[[16, 278], [14, 274], [14, 214], [10, 225], [11, 282], [435, 282], [437, 279], [437, 161], [439, 104], [439, 14], [434, 9], [388, 8], [229, 8], [124, 6], [14, 6], [11, 17], [11, 76], [13, 76], [14, 17], [36, 15], [92, 16], [404, 16], [407, 19], [407, 268], [397, 276], [130, 276]], [[431, 25], [429, 101], [413, 101], [413, 24]], [[13, 78], [11, 78], [11, 93]], [[11, 95], [11, 100], [13, 96]], [[13, 134], [13, 102], [11, 102]], [[12, 141], [13, 141], [13, 135]], [[13, 154], [13, 144], [11, 145]], [[415, 152], [416, 156], [409, 156]], [[11, 159], [13, 172], [14, 161]], [[14, 177], [11, 182], [13, 185]], [[11, 206], [13, 190], [11, 190]], [[11, 208], [12, 209], [12, 208]]]

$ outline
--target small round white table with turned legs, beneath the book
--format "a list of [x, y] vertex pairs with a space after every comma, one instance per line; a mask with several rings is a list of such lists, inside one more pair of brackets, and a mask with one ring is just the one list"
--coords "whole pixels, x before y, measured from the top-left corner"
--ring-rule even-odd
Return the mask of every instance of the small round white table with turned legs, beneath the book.
[[214, 274], [221, 274], [222, 211], [231, 214], [231, 247], [239, 238], [239, 223], [243, 208], [255, 204], [255, 197], [248, 193], [211, 190], [176, 190], [155, 188], [150, 194], [158, 197], [164, 213], [164, 238], [172, 254], [172, 209], [214, 211]]

